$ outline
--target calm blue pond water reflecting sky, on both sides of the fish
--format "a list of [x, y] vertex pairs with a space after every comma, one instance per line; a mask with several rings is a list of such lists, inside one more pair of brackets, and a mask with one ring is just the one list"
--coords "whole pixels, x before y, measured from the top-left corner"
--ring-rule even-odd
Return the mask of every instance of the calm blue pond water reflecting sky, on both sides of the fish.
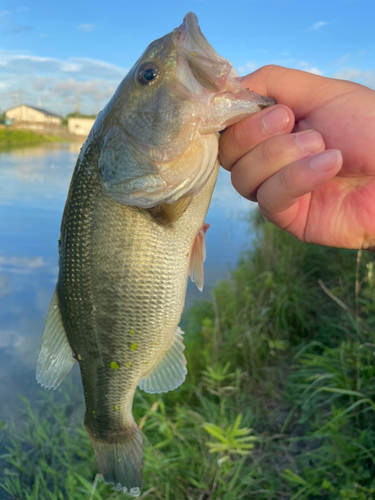
[[[33, 400], [44, 319], [56, 284], [57, 241], [79, 144], [0, 153], [0, 420], [17, 417], [19, 395]], [[209, 298], [251, 242], [250, 203], [221, 169], [206, 217], [205, 287], [189, 282], [186, 306]], [[77, 368], [77, 367], [75, 367]]]

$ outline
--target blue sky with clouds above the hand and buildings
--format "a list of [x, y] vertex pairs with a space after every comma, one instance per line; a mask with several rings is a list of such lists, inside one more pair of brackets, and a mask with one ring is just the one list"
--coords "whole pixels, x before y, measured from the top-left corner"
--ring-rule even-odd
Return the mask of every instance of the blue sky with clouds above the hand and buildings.
[[3, 0], [0, 108], [94, 113], [188, 11], [240, 74], [274, 63], [375, 88], [374, 0]]

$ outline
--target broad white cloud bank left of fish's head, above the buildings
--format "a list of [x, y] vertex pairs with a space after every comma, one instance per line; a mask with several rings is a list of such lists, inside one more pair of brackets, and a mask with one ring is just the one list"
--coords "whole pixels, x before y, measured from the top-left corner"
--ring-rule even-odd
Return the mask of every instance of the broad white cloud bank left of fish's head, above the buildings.
[[10, 94], [22, 81], [23, 101], [65, 115], [75, 110], [77, 92], [81, 111], [102, 109], [127, 73], [126, 68], [96, 59], [58, 59], [0, 49], [2, 109], [14, 105]]

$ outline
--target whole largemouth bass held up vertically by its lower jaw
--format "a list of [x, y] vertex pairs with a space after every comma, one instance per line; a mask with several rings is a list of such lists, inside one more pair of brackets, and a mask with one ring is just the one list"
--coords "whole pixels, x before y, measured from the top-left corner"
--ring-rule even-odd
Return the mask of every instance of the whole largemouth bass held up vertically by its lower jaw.
[[178, 323], [189, 274], [203, 287], [218, 132], [274, 103], [237, 76], [187, 14], [125, 76], [70, 185], [37, 380], [56, 388], [78, 361], [100, 472], [134, 496], [142, 465], [135, 390], [170, 391], [187, 373]]

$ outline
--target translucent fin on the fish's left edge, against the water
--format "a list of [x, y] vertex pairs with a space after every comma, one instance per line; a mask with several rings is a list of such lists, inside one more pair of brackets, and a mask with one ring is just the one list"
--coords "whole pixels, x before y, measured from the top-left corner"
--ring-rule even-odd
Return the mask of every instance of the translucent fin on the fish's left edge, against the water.
[[37, 381], [47, 389], [56, 389], [72, 368], [74, 361], [61, 318], [59, 298], [55, 291], [46, 317], [39, 351]]

